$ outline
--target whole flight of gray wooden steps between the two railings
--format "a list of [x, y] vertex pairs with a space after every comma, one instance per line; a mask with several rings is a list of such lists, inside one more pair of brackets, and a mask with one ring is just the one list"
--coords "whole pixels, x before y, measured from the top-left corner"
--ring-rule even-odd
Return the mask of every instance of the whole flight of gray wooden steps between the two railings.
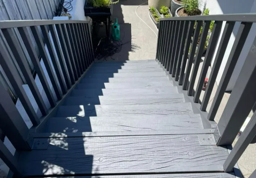
[[26, 176], [233, 178], [222, 172], [228, 150], [199, 143], [213, 131], [155, 60], [94, 63], [33, 135], [47, 148], [18, 162]]

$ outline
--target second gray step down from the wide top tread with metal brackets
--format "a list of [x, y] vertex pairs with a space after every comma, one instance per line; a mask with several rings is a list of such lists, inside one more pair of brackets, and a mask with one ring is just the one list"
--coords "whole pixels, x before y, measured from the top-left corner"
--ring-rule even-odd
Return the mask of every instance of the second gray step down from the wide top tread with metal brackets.
[[191, 103], [60, 106], [56, 117], [193, 114]]

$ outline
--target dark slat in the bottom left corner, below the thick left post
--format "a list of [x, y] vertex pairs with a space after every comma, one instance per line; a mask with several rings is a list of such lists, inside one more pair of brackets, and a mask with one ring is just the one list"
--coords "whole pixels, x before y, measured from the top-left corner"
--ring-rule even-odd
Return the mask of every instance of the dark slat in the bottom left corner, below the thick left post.
[[0, 158], [8, 166], [8, 168], [13, 171], [13, 173], [18, 177], [23, 177], [23, 172], [18, 166], [18, 161], [14, 159], [13, 154], [8, 150], [8, 148], [0, 140]]

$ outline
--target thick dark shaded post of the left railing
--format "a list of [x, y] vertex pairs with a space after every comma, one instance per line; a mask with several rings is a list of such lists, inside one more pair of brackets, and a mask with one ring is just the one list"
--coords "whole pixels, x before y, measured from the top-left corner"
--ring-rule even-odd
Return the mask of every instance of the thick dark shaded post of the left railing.
[[0, 126], [16, 150], [31, 150], [27, 142], [29, 130], [14, 102], [0, 82]]

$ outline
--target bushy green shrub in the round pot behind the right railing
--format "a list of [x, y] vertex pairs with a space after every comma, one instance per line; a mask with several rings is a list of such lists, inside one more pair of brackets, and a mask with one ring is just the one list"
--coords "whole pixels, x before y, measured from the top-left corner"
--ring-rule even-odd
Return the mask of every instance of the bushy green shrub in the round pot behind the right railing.
[[184, 8], [185, 13], [187, 13], [188, 16], [200, 15], [200, 0], [182, 0], [181, 4], [182, 7]]

